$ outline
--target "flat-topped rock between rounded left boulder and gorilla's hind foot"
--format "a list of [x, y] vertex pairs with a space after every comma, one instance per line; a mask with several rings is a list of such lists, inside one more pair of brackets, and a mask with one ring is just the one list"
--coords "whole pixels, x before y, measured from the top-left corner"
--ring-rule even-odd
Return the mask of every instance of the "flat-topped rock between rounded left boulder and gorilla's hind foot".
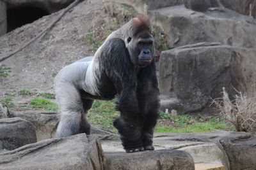
[[37, 141], [54, 138], [59, 123], [56, 112], [47, 111], [15, 111], [10, 117], [20, 117], [35, 126]]

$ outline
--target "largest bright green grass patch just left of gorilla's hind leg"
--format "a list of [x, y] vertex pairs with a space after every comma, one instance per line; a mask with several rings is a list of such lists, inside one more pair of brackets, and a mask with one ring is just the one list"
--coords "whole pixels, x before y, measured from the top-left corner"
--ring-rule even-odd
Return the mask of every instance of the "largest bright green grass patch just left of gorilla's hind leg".
[[45, 111], [58, 111], [58, 105], [44, 98], [34, 98], [29, 101], [29, 108], [42, 109]]

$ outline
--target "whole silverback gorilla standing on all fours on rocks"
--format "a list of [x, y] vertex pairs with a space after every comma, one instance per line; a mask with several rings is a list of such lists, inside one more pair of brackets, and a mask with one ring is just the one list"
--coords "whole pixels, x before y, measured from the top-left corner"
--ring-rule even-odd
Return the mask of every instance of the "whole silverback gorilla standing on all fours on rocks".
[[154, 150], [159, 110], [154, 38], [144, 15], [112, 32], [94, 57], [63, 67], [54, 80], [60, 107], [56, 137], [90, 134], [87, 111], [95, 99], [116, 97], [120, 117], [113, 125], [126, 152]]

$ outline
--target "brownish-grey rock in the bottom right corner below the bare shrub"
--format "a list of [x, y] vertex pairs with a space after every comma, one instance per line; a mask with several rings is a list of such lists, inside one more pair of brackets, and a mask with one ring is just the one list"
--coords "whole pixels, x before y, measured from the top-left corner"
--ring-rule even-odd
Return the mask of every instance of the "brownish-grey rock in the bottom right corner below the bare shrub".
[[223, 149], [228, 155], [230, 169], [256, 169], [256, 137], [239, 140], [220, 141]]

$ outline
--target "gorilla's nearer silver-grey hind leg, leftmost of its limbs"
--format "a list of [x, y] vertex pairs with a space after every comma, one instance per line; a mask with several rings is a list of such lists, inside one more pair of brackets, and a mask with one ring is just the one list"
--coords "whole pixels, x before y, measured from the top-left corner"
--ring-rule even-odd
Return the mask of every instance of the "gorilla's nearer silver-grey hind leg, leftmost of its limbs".
[[79, 91], [70, 83], [56, 85], [56, 99], [60, 110], [60, 123], [56, 137], [72, 136], [81, 132], [83, 103]]

